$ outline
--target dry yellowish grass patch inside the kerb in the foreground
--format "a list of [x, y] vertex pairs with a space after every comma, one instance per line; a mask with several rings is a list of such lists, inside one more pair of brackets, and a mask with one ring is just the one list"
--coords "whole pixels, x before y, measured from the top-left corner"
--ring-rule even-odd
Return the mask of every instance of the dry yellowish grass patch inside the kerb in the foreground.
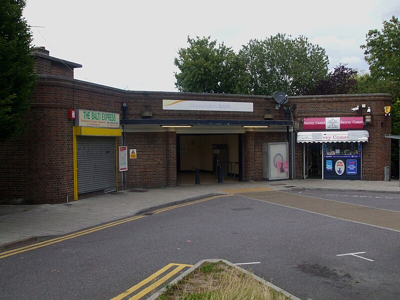
[[288, 300], [284, 294], [221, 261], [205, 262], [178, 283], [165, 286], [157, 300]]

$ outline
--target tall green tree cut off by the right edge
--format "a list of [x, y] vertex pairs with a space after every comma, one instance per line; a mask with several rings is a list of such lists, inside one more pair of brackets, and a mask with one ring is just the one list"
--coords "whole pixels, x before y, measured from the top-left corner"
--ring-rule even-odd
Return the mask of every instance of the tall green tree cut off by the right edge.
[[383, 29], [369, 30], [364, 49], [365, 61], [369, 64], [371, 78], [375, 85], [384, 88], [393, 96], [393, 102], [400, 96], [400, 22], [391, 17], [383, 21]]

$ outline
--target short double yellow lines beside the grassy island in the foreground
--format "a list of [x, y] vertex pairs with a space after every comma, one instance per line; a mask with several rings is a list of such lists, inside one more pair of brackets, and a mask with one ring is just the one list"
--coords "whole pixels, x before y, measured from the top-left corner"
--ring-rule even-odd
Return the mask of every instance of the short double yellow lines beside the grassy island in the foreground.
[[149, 293], [150, 291], [155, 289], [157, 286], [161, 285], [163, 282], [168, 280], [170, 277], [172, 277], [174, 274], [179, 272], [181, 269], [183, 269], [185, 267], [191, 267], [192, 265], [191, 264], [182, 264], [182, 263], [169, 263], [169, 264], [165, 265], [163, 268], [161, 268], [158, 271], [156, 271], [155, 273], [153, 273], [152, 275], [148, 276], [146, 279], [140, 281], [139, 283], [137, 283], [137, 284], [133, 285], [132, 287], [130, 287], [129, 289], [125, 290], [123, 293], [117, 295], [116, 297], [111, 298], [111, 300], [121, 300], [124, 297], [127, 297], [128, 295], [135, 292], [137, 289], [139, 289], [143, 285], [155, 280], [159, 275], [164, 273], [166, 270], [168, 270], [172, 266], [176, 266], [176, 267], [174, 269], [172, 269], [169, 273], [167, 273], [164, 276], [162, 276], [161, 278], [159, 278], [157, 281], [151, 283], [146, 288], [144, 288], [141, 291], [139, 291], [138, 293], [134, 294], [132, 297], [129, 298], [129, 300], [140, 299], [142, 296]]

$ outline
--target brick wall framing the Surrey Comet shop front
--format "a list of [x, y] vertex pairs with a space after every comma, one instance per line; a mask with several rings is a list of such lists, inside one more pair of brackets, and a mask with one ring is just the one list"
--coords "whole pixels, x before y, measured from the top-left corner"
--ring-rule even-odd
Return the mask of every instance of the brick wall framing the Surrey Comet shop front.
[[[371, 109], [371, 123], [365, 123], [362, 130], [369, 132], [368, 142], [362, 143], [362, 180], [383, 180], [384, 166], [390, 165], [390, 139], [384, 137], [391, 132], [390, 116], [384, 115], [384, 106], [391, 104], [391, 97], [384, 94], [362, 95], [328, 95], [328, 96], [300, 96], [292, 97], [297, 103], [293, 110], [293, 120], [299, 122], [302, 131], [301, 119], [305, 117], [339, 117], [363, 116], [366, 109]], [[365, 108], [361, 108], [365, 104]], [[359, 105], [359, 111], [351, 111]], [[382, 126], [383, 124], [383, 126]], [[302, 144], [295, 145], [296, 178], [302, 178]]]

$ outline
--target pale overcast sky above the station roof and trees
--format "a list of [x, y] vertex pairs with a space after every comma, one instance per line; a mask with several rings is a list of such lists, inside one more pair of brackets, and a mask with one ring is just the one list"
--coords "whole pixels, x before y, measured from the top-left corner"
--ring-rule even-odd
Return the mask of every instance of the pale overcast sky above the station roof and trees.
[[323, 47], [339, 62], [368, 70], [360, 45], [369, 29], [400, 16], [399, 0], [27, 0], [33, 44], [83, 65], [75, 78], [130, 90], [177, 91], [173, 59], [187, 35], [211, 36], [236, 52], [278, 32]]

